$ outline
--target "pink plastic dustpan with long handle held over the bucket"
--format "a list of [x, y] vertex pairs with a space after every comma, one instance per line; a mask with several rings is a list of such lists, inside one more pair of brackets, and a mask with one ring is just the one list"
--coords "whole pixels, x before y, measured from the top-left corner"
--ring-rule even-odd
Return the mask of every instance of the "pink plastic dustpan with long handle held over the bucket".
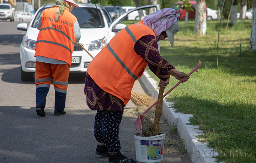
[[[199, 61], [198, 66], [195, 67], [190, 73], [188, 73], [188, 75], [191, 75], [193, 72], [198, 72], [197, 69], [201, 66], [201, 61]], [[172, 87], [169, 91], [167, 91], [163, 97], [165, 97], [166, 95], [168, 95], [172, 90], [174, 90], [179, 84], [181, 83], [181, 81], [179, 81], [174, 87]], [[138, 118], [134, 120], [134, 125], [136, 126], [136, 128], [138, 129], [140, 135], [142, 135], [142, 123], [141, 121], [146, 118], [145, 114], [156, 105], [157, 101], [155, 103], [153, 103], [153, 105], [151, 105], [148, 109], [146, 109], [145, 112], [140, 113], [138, 112]]]

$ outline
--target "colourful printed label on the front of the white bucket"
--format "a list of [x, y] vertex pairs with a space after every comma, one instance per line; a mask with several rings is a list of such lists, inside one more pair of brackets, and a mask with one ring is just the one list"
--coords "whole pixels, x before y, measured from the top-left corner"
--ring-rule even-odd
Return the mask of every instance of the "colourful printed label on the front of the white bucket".
[[142, 159], [162, 159], [164, 153], [164, 140], [140, 140]]

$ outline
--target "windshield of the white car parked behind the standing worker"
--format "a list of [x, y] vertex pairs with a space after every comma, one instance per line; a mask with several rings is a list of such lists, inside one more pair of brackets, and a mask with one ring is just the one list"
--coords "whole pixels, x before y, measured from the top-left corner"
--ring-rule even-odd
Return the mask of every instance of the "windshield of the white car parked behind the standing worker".
[[[40, 15], [42, 14], [43, 10], [47, 8], [43, 8], [38, 11], [32, 27], [36, 28], [36, 20], [39, 19]], [[89, 7], [74, 7], [71, 11], [73, 15], [78, 19], [78, 23], [80, 28], [103, 28], [105, 27], [102, 14], [100, 10], [95, 8]]]

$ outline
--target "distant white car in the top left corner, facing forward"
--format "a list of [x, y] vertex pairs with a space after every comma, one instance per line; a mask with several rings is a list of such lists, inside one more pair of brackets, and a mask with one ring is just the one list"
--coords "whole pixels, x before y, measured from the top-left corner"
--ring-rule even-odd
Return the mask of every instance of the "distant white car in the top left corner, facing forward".
[[10, 4], [0, 4], [0, 19], [14, 21], [14, 10]]

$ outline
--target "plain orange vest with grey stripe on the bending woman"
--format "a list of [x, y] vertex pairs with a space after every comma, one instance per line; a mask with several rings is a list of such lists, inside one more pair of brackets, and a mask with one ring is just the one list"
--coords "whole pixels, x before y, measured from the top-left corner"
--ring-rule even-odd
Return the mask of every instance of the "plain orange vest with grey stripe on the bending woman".
[[117, 96], [125, 105], [130, 100], [135, 80], [148, 65], [134, 50], [135, 43], [145, 35], [155, 36], [155, 33], [142, 21], [125, 27], [87, 67], [87, 73], [95, 83], [104, 91]]

